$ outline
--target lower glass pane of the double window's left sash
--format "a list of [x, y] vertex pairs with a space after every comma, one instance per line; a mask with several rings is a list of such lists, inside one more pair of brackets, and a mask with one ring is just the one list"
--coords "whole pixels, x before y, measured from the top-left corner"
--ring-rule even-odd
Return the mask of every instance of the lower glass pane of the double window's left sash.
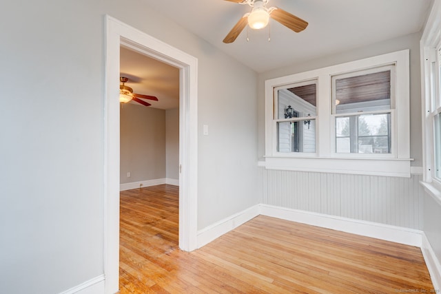
[[278, 152], [316, 152], [316, 120], [277, 123]]

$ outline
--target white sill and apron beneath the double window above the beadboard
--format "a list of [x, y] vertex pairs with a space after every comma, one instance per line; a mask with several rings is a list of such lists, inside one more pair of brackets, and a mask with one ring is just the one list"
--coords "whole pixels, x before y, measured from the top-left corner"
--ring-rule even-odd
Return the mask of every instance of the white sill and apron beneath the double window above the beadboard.
[[259, 166], [285, 171], [314, 171], [410, 178], [411, 158], [287, 158], [265, 157]]

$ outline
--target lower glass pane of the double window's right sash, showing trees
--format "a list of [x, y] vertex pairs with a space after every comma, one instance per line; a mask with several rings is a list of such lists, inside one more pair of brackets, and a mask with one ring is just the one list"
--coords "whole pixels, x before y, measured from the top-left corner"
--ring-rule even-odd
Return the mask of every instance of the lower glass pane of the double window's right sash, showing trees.
[[391, 153], [391, 114], [336, 117], [337, 153]]

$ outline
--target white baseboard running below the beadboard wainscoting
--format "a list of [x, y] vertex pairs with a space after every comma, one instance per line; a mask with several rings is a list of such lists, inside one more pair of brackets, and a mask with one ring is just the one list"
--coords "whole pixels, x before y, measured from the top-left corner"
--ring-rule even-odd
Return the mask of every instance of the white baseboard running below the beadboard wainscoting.
[[329, 216], [322, 213], [300, 211], [285, 207], [275, 207], [267, 204], [260, 204], [260, 214], [263, 216], [301, 222], [302, 224], [311, 224], [316, 227], [334, 229], [356, 235], [364, 235], [366, 237], [397, 242], [410, 246], [420, 247], [422, 244], [422, 231], [416, 229], [396, 227], [377, 222], [353, 220], [351, 218], [341, 218], [338, 216]]

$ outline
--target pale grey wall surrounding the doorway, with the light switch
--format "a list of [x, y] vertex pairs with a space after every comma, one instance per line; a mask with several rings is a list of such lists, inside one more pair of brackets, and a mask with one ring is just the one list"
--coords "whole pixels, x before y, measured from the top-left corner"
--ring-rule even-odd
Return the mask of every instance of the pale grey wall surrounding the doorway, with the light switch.
[[258, 202], [255, 72], [142, 0], [2, 3], [4, 293], [60, 293], [103, 274], [105, 14], [198, 59], [198, 227]]

